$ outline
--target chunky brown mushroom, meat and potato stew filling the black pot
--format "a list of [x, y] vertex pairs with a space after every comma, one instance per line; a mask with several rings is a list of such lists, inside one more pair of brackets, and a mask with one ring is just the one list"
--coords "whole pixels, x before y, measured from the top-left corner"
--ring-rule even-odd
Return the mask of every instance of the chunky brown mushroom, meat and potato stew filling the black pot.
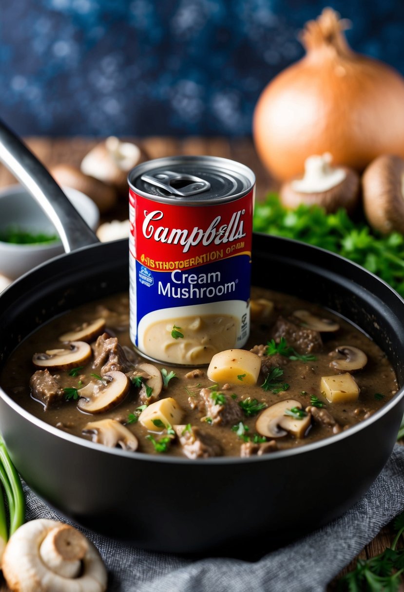
[[[117, 295], [30, 336], [2, 385], [70, 434], [192, 459], [263, 455], [330, 437], [395, 394], [384, 353], [329, 311], [253, 289], [251, 316], [246, 350], [220, 352], [209, 368], [161, 366], [134, 352], [128, 298]], [[184, 338], [178, 325], [173, 340]]]

